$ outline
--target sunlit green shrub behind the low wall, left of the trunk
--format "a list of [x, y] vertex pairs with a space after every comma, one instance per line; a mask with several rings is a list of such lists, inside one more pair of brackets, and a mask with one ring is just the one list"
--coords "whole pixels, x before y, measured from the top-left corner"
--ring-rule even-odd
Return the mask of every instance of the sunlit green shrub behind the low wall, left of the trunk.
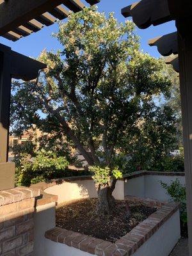
[[31, 183], [64, 177], [67, 166], [65, 157], [58, 157], [51, 151], [39, 150], [33, 158], [29, 154], [22, 154], [16, 170], [16, 184], [29, 186]]

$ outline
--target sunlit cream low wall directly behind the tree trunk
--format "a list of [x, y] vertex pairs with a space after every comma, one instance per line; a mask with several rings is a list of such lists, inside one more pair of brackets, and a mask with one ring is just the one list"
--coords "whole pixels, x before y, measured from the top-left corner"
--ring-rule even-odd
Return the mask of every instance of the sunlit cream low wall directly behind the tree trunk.
[[[58, 195], [58, 204], [76, 200], [81, 198], [96, 198], [97, 190], [93, 180], [72, 180], [70, 182], [63, 182], [56, 186], [49, 187], [44, 190], [45, 193]], [[117, 200], [124, 200], [124, 180], [116, 182], [115, 191], [113, 196]]]

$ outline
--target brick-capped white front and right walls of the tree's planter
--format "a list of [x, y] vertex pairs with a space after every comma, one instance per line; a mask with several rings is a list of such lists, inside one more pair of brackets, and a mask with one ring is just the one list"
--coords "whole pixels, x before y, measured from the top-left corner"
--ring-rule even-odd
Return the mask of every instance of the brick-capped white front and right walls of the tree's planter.
[[[137, 200], [141, 201], [138, 198]], [[146, 201], [145, 204], [147, 204]], [[155, 204], [156, 202], [152, 204], [152, 200], [148, 202], [148, 205]], [[52, 228], [45, 232], [46, 255], [168, 256], [180, 238], [179, 228], [179, 205], [163, 204], [156, 212], [115, 243], [65, 228]], [[163, 250], [161, 250], [162, 246]]]

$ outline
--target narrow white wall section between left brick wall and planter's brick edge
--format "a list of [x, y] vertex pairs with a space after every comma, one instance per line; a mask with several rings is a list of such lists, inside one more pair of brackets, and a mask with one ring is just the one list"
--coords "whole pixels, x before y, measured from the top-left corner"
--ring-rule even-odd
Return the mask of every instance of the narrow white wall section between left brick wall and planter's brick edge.
[[34, 222], [34, 255], [43, 256], [46, 255], [45, 249], [47, 246], [47, 244], [45, 244], [45, 231], [56, 226], [55, 203], [37, 206]]

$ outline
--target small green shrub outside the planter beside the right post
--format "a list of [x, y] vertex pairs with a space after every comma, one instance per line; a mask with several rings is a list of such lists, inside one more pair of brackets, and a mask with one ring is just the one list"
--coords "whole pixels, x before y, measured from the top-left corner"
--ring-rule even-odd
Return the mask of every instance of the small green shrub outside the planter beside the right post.
[[179, 179], [176, 179], [172, 184], [168, 185], [161, 182], [161, 186], [167, 190], [175, 202], [180, 203], [180, 220], [186, 224], [188, 222], [187, 208], [186, 208], [186, 187], [180, 184]]

